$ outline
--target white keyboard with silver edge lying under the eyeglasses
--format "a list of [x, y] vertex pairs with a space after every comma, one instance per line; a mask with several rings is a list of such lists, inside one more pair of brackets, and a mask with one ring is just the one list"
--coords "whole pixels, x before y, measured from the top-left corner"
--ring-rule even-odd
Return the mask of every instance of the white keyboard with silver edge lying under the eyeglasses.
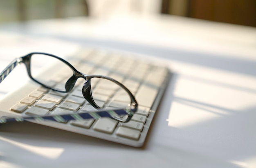
[[[117, 52], [107, 52], [98, 49], [81, 51], [74, 56], [65, 58], [77, 70], [85, 74], [100, 74], [110, 76], [123, 83], [139, 104], [138, 111], [128, 123], [121, 123], [110, 118], [87, 119], [83, 121], [34, 121], [62, 130], [85, 134], [108, 141], [141, 147], [144, 144], [151, 121], [157, 110], [160, 99], [170, 78], [170, 72], [165, 67], [153, 65], [127, 54], [122, 56]], [[50, 68], [50, 69], [49, 69]], [[56, 67], [48, 67], [44, 71], [56, 72]], [[51, 76], [49, 76], [51, 78]], [[58, 85], [58, 77], [52, 77], [53, 85]], [[84, 99], [82, 85], [84, 81], [77, 81], [74, 89], [69, 93], [54, 92], [33, 81], [18, 88], [0, 100], [0, 111], [4, 115], [29, 116], [76, 114], [95, 109]], [[107, 100], [99, 93], [97, 98]], [[118, 103], [104, 103], [103, 108], [121, 107]], [[109, 101], [108, 101], [109, 102]], [[1, 114], [1, 113], [0, 113]]]

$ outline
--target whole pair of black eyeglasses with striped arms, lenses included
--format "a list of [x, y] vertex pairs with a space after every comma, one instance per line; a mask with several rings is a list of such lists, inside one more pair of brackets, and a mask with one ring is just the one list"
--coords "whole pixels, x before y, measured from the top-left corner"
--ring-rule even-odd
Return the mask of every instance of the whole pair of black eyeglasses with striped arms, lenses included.
[[[49, 65], [48, 69], [43, 71], [43, 74], [36, 74], [38, 59], [43, 59]], [[24, 63], [27, 68], [29, 77], [36, 83], [51, 89], [55, 92], [67, 93], [74, 90], [75, 87], [82, 87], [77, 91], [82, 91], [83, 97], [97, 110], [93, 112], [80, 112], [74, 114], [60, 115], [64, 120], [81, 120], [81, 119], [98, 119], [100, 117], [110, 117], [117, 121], [128, 122], [132, 115], [137, 111], [138, 104], [133, 94], [120, 82], [113, 78], [103, 75], [86, 75], [76, 70], [66, 60], [47, 53], [33, 52], [16, 58], [13, 60], [1, 73], [0, 83], [8, 76], [8, 74], [19, 64]], [[54, 69], [54, 72], [52, 72]], [[84, 68], [86, 69], [86, 67]], [[52, 75], [54, 74], [54, 75]], [[49, 76], [53, 76], [49, 78]], [[77, 80], [83, 78], [85, 83], [76, 86]], [[58, 82], [56, 82], [58, 81]], [[123, 105], [119, 108], [104, 109], [106, 103], [121, 102]], [[0, 123], [6, 121], [23, 121], [24, 119], [36, 120], [57, 120], [58, 116], [32, 116], [18, 118], [0, 118]]]

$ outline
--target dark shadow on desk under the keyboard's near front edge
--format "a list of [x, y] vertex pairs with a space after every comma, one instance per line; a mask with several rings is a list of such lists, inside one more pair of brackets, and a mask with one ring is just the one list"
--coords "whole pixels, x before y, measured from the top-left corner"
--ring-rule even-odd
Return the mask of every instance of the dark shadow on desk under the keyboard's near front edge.
[[[22, 143], [22, 141], [26, 143], [27, 140], [32, 139], [35, 142], [43, 141], [45, 144], [56, 142], [90, 146], [111, 146], [111, 148], [131, 148], [130, 146], [121, 145], [119, 143], [30, 122], [5, 123], [1, 125], [0, 130], [2, 137], [8, 137], [10, 140], [18, 137], [20, 143]], [[36, 143], [36, 145], [38, 145], [38, 143]]]

